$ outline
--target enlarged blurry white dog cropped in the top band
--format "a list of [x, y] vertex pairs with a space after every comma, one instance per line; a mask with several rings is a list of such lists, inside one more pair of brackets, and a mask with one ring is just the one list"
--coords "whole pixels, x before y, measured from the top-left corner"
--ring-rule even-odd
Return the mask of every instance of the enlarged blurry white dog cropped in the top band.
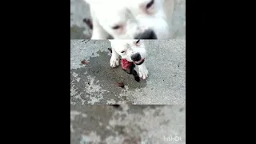
[[91, 39], [170, 39], [174, 0], [84, 0], [90, 6]]

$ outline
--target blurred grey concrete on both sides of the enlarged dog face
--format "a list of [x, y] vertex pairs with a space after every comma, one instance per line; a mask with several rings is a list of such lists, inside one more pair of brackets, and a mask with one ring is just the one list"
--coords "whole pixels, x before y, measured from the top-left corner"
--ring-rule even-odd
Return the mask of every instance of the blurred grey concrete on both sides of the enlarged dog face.
[[[92, 31], [82, 22], [84, 18], [90, 18], [86, 2], [70, 0], [70, 39], [90, 39]], [[169, 23], [171, 38], [186, 38], [186, 0], [174, 0], [174, 16]]]

